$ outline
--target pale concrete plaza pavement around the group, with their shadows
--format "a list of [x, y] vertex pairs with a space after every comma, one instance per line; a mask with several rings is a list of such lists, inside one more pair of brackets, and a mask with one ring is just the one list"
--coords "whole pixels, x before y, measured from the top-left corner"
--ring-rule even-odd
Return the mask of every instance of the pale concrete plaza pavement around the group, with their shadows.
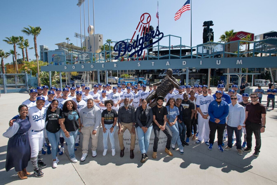
[[[215, 88], [212, 91], [215, 92]], [[263, 95], [263, 105], [266, 105], [266, 97]], [[1, 134], [8, 128], [9, 120], [17, 114], [18, 106], [28, 98], [28, 93], [1, 94]], [[31, 175], [26, 180], [20, 180], [14, 169], [6, 172], [8, 138], [0, 136], [0, 184], [277, 184], [276, 119], [276, 109], [271, 110], [270, 105], [266, 114], [266, 129], [261, 134], [262, 147], [258, 157], [252, 155], [254, 138], [252, 152], [243, 152], [242, 156], [238, 155], [235, 147], [224, 152], [214, 147], [210, 151], [205, 143], [190, 141], [189, 146], [184, 147], [184, 155], [180, 155], [179, 149], [176, 149], [172, 151], [173, 157], [158, 152], [157, 158], [153, 159], [149, 152], [149, 159], [144, 164], [140, 162], [141, 153], [135, 153], [135, 158], [130, 159], [129, 150], [125, 150], [123, 158], [119, 153], [111, 156], [111, 152], [104, 157], [102, 151], [98, 151], [93, 158], [89, 151], [86, 160], [80, 162], [80, 147], [75, 152], [78, 162], [71, 163], [65, 145], [65, 153], [59, 156], [60, 162], [56, 169], [52, 169], [52, 155], [42, 156], [47, 167], [42, 169], [44, 176], [41, 178], [32, 174], [33, 168], [29, 161], [27, 171]], [[227, 141], [224, 143], [227, 146]]]

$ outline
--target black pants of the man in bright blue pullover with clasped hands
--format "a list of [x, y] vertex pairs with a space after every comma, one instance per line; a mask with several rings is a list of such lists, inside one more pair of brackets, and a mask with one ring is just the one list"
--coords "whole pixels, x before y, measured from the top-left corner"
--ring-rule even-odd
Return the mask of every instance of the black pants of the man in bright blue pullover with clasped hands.
[[[217, 145], [222, 145], [223, 132], [224, 132], [224, 129], [225, 129], [225, 124], [218, 124], [218, 123], [214, 123], [212, 121], [209, 121], [209, 126], [210, 126], [210, 135], [209, 135], [210, 144], [214, 144], [214, 142], [215, 142], [215, 132], [217, 131]], [[232, 138], [232, 136], [233, 136], [233, 134], [231, 135], [231, 138]]]

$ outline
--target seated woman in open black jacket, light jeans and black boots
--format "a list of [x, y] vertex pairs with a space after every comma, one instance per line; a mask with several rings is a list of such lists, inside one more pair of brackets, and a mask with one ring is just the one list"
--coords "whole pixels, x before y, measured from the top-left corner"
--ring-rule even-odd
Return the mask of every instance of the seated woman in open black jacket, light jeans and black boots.
[[141, 150], [141, 163], [145, 163], [149, 148], [149, 140], [152, 132], [153, 112], [151, 107], [147, 106], [146, 99], [141, 100], [141, 106], [136, 109], [136, 132], [139, 138], [139, 149]]

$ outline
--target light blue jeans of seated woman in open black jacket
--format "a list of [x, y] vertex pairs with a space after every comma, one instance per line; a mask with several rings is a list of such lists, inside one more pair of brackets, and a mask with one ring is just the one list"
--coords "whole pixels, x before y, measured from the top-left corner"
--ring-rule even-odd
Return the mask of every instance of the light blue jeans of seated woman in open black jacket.
[[153, 126], [150, 126], [147, 129], [146, 133], [144, 133], [142, 128], [140, 127], [136, 128], [136, 133], [138, 134], [138, 138], [139, 138], [139, 149], [141, 151], [141, 154], [147, 153], [148, 151], [152, 128]]

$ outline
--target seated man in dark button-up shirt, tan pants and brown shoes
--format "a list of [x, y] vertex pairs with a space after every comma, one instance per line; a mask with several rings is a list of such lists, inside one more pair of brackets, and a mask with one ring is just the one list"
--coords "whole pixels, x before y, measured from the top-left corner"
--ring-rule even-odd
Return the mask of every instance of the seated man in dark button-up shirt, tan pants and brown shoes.
[[123, 133], [126, 129], [129, 130], [131, 134], [131, 147], [130, 147], [130, 158], [134, 158], [134, 149], [136, 142], [136, 131], [135, 131], [135, 108], [132, 105], [129, 105], [129, 98], [124, 99], [124, 106], [118, 109], [118, 141], [120, 146], [120, 157], [124, 156], [124, 144], [123, 144]]

